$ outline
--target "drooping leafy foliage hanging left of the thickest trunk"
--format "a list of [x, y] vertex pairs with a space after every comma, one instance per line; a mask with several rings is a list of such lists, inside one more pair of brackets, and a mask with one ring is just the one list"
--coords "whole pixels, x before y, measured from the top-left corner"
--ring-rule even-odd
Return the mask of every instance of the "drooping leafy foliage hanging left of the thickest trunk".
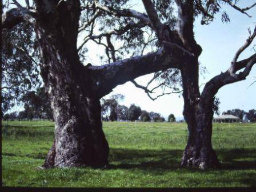
[[2, 113], [40, 86], [38, 42], [31, 25], [21, 23], [2, 31]]

